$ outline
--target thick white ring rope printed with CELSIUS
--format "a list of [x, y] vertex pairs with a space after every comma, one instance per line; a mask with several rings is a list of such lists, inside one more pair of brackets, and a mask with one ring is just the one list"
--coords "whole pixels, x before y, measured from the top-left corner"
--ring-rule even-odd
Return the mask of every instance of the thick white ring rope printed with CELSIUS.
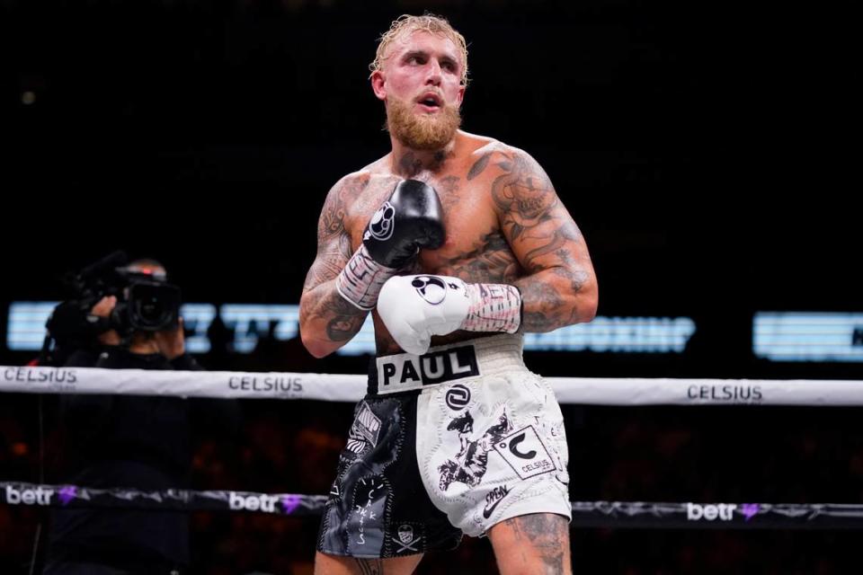
[[[547, 377], [560, 403], [585, 405], [863, 405], [863, 381]], [[357, 402], [366, 376], [0, 366], [0, 392]]]

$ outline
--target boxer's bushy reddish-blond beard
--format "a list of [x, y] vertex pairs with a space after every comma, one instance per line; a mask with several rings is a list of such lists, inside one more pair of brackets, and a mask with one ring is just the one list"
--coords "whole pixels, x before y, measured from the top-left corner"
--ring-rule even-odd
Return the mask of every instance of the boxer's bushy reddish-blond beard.
[[436, 114], [414, 113], [414, 102], [387, 99], [387, 130], [414, 150], [443, 149], [461, 126], [458, 108], [443, 104]]

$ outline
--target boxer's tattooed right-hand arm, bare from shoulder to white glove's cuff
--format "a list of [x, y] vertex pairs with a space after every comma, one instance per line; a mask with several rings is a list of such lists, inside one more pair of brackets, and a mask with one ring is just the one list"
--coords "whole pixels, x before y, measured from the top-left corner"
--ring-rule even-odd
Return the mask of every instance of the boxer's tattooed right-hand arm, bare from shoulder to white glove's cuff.
[[503, 235], [527, 272], [514, 282], [524, 302], [522, 330], [590, 322], [597, 284], [578, 226], [533, 158], [513, 148], [497, 156], [492, 198]]

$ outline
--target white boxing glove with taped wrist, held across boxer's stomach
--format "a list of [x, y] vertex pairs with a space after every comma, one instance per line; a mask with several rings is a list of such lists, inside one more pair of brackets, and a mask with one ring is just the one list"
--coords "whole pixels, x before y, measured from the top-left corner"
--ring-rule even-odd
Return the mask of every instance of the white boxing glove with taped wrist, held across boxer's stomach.
[[399, 347], [422, 355], [432, 335], [518, 332], [521, 292], [507, 284], [468, 284], [449, 276], [395, 276], [380, 290], [378, 314]]

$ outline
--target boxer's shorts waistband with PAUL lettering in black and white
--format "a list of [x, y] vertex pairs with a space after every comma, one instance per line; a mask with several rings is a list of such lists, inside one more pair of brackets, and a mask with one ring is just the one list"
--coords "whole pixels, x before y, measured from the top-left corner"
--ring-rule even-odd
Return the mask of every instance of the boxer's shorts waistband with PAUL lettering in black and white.
[[430, 348], [422, 356], [398, 353], [369, 362], [371, 395], [396, 394], [459, 379], [527, 369], [520, 333], [501, 333]]

